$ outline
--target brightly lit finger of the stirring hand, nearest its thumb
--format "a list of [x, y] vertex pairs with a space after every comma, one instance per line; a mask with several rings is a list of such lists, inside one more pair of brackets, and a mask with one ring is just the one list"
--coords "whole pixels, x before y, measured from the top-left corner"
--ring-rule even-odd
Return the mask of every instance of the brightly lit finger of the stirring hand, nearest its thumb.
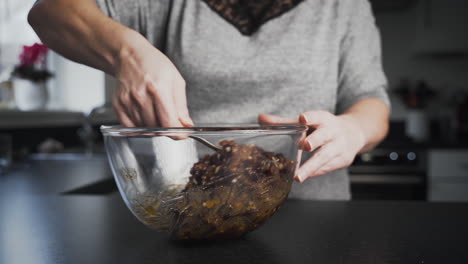
[[[171, 83], [148, 82], [150, 86], [148, 91], [154, 100], [155, 112], [162, 127], [182, 127], [179, 121], [177, 109], [174, 104], [174, 97], [172, 95]], [[161, 86], [161, 89], [156, 89], [156, 85]]]

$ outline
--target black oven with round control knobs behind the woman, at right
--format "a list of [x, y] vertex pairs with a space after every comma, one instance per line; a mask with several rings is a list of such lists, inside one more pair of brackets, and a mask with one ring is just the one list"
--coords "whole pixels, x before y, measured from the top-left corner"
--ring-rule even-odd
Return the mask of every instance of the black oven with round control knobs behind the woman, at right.
[[424, 149], [377, 148], [358, 155], [349, 172], [353, 199], [426, 199]]

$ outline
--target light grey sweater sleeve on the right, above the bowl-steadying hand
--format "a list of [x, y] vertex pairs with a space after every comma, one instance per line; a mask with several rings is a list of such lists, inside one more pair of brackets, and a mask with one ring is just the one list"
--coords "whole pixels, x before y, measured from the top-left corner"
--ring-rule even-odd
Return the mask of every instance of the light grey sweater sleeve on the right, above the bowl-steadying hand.
[[340, 43], [337, 113], [365, 98], [390, 106], [382, 69], [381, 42], [368, 0], [353, 0]]

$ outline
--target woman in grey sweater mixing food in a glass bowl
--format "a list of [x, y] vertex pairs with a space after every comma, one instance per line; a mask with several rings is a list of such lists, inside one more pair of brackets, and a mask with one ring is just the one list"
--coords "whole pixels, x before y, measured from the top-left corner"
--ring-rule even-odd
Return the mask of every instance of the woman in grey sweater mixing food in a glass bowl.
[[126, 126], [314, 127], [290, 197], [349, 199], [344, 168], [388, 130], [367, 0], [40, 0], [28, 19], [50, 48], [117, 78]]

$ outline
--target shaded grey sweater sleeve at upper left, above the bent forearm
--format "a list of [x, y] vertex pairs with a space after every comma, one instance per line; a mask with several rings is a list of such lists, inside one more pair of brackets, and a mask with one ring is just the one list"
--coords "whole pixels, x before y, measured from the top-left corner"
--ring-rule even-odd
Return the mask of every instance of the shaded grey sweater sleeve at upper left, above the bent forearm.
[[164, 49], [172, 0], [95, 0], [108, 17], [145, 36]]

